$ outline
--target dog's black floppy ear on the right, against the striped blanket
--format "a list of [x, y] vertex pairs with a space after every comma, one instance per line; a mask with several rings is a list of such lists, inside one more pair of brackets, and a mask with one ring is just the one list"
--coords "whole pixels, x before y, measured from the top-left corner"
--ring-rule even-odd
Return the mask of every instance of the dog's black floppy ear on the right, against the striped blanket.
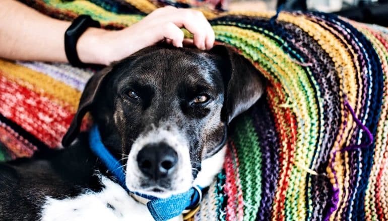
[[226, 86], [221, 118], [229, 124], [263, 94], [264, 77], [247, 59], [230, 47], [216, 45], [211, 52], [221, 57], [218, 63]]

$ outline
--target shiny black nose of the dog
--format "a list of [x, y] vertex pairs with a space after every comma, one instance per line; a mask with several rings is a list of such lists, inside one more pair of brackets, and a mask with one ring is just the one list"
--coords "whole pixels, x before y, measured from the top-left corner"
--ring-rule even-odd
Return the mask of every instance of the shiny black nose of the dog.
[[166, 143], [148, 144], [139, 152], [137, 160], [145, 175], [158, 180], [174, 170], [178, 154]]

